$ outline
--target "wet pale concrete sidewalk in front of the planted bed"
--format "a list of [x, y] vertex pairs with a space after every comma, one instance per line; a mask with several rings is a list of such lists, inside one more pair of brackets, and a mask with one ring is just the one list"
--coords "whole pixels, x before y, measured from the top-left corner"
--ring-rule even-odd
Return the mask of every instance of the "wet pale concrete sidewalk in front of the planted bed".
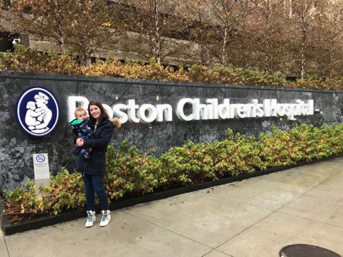
[[[343, 158], [3, 236], [0, 257], [278, 257], [304, 243], [343, 255]], [[1, 233], [1, 232], [0, 232]]]

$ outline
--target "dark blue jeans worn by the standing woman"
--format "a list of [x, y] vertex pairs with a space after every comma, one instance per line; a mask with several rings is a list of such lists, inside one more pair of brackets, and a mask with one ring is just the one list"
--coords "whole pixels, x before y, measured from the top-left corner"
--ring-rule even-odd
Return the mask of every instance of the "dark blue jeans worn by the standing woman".
[[82, 176], [86, 191], [87, 210], [95, 210], [94, 192], [97, 193], [102, 210], [109, 210], [103, 176], [84, 174]]

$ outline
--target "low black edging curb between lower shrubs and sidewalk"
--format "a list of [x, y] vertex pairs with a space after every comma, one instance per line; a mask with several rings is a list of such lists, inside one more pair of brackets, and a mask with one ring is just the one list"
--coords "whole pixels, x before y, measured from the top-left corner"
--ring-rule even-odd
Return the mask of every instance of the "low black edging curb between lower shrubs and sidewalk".
[[[332, 160], [339, 157], [343, 157], [343, 153], [339, 155], [332, 155], [330, 157], [325, 157], [319, 160], [311, 160], [309, 162], [301, 161], [298, 164], [274, 167], [270, 169], [256, 171], [253, 173], [241, 174], [234, 177], [221, 178], [216, 181], [203, 182], [203, 183], [199, 183], [199, 184], [188, 186], [188, 187], [178, 187], [178, 188], [173, 188], [173, 189], [167, 189], [161, 192], [151, 192], [142, 196], [131, 197], [127, 199], [120, 199], [110, 204], [110, 210], [123, 209], [126, 207], [138, 205], [138, 204], [143, 204], [143, 203], [147, 203], [151, 201], [168, 198], [168, 197], [175, 196], [178, 194], [184, 194], [184, 193], [188, 193], [188, 192], [192, 192], [192, 191], [196, 191], [196, 190], [200, 190], [200, 189], [204, 189], [208, 187], [219, 186], [219, 185], [232, 183], [232, 182], [236, 182], [240, 180], [245, 180], [245, 179], [249, 179], [253, 177], [267, 175], [270, 173], [274, 173], [274, 172], [278, 172], [278, 171], [282, 171], [286, 169], [291, 169], [294, 167], [299, 167], [299, 166], [303, 166], [307, 164], [314, 164], [314, 163], [319, 163], [322, 161]], [[19, 232], [28, 231], [28, 230], [39, 229], [42, 227], [51, 226], [54, 224], [71, 221], [71, 220], [86, 216], [85, 215], [86, 209], [83, 208], [79, 210], [73, 210], [73, 211], [60, 213], [57, 215], [51, 215], [51, 216], [46, 216], [42, 218], [32, 219], [32, 220], [24, 221], [17, 224], [10, 224], [7, 214], [3, 213], [4, 209], [5, 209], [4, 206], [0, 204], [1, 229], [4, 235], [10, 235], [10, 234], [15, 234]], [[96, 212], [99, 213], [100, 209], [96, 210]]]

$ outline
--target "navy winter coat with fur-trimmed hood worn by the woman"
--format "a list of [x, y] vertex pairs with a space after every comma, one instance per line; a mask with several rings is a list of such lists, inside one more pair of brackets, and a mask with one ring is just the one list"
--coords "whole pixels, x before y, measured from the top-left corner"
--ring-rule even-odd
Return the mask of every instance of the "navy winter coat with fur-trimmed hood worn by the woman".
[[[83, 147], [92, 147], [90, 158], [86, 159], [79, 155], [76, 161], [76, 170], [82, 174], [104, 175], [106, 170], [106, 151], [107, 145], [111, 140], [114, 125], [106, 117], [103, 117], [94, 132], [95, 125], [89, 122], [93, 131], [92, 139], [85, 139]], [[74, 142], [76, 142], [75, 137]]]

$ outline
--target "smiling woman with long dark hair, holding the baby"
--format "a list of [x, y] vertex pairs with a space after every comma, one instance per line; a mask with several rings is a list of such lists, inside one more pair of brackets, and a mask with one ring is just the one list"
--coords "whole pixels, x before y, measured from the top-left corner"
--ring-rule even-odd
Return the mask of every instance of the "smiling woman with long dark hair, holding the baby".
[[95, 222], [94, 192], [97, 193], [102, 208], [100, 226], [103, 227], [111, 219], [103, 176], [106, 169], [105, 154], [113, 134], [114, 125], [109, 120], [108, 114], [100, 102], [91, 101], [88, 105], [88, 112], [90, 114], [88, 124], [92, 128], [93, 138], [82, 140], [76, 136], [74, 141], [79, 147], [92, 147], [93, 150], [89, 159], [86, 159], [83, 155], [78, 156], [76, 170], [82, 173], [86, 191], [88, 215], [86, 227], [92, 227]]

